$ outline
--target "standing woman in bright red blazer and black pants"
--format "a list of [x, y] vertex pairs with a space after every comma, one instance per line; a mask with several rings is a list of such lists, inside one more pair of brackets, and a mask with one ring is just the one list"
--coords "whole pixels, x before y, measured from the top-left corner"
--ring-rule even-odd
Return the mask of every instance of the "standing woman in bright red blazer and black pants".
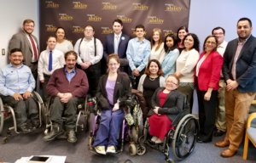
[[218, 82], [223, 57], [217, 52], [218, 39], [208, 36], [204, 42], [204, 51], [195, 67], [195, 86], [199, 105], [200, 133], [198, 142], [212, 141], [218, 101]]

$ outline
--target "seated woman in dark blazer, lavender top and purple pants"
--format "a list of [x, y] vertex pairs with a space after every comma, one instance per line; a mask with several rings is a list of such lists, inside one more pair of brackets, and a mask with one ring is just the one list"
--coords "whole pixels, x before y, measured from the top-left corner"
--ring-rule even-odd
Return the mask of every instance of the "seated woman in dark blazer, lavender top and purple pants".
[[[96, 134], [96, 153], [116, 153], [119, 129], [124, 120], [124, 111], [119, 101], [124, 101], [131, 94], [131, 82], [125, 73], [119, 73], [119, 57], [110, 54], [107, 60], [108, 74], [101, 77], [96, 91], [99, 107], [102, 109], [101, 122]], [[107, 151], [106, 151], [106, 147]]]

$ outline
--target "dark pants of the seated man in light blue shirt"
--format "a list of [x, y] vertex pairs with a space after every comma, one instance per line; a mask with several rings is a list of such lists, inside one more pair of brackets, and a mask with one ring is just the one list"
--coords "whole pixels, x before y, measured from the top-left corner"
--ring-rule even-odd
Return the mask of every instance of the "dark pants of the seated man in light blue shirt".
[[31, 121], [38, 121], [38, 104], [32, 97], [26, 99], [15, 100], [12, 96], [1, 95], [3, 104], [8, 104], [15, 110], [15, 118], [17, 125], [20, 126], [27, 122], [27, 119]]

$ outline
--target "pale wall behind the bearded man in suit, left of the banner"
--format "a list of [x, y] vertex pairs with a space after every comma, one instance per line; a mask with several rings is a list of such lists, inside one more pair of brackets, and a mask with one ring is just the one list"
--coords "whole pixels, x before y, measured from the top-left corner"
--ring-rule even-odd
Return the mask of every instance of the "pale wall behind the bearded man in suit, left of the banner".
[[[23, 20], [32, 19], [36, 27], [33, 32], [38, 37], [38, 0], [0, 0], [0, 68], [7, 64], [9, 39], [22, 27]], [[2, 55], [2, 49], [5, 55]]]

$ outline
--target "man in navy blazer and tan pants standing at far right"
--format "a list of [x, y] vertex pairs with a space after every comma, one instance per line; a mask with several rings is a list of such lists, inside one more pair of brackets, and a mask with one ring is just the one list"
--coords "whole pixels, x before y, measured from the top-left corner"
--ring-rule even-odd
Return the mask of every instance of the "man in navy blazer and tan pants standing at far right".
[[215, 143], [224, 149], [223, 157], [236, 155], [247, 121], [247, 110], [256, 95], [256, 38], [252, 36], [252, 21], [237, 22], [238, 38], [228, 43], [224, 52], [223, 75], [227, 83], [225, 109], [227, 132], [223, 141]]

